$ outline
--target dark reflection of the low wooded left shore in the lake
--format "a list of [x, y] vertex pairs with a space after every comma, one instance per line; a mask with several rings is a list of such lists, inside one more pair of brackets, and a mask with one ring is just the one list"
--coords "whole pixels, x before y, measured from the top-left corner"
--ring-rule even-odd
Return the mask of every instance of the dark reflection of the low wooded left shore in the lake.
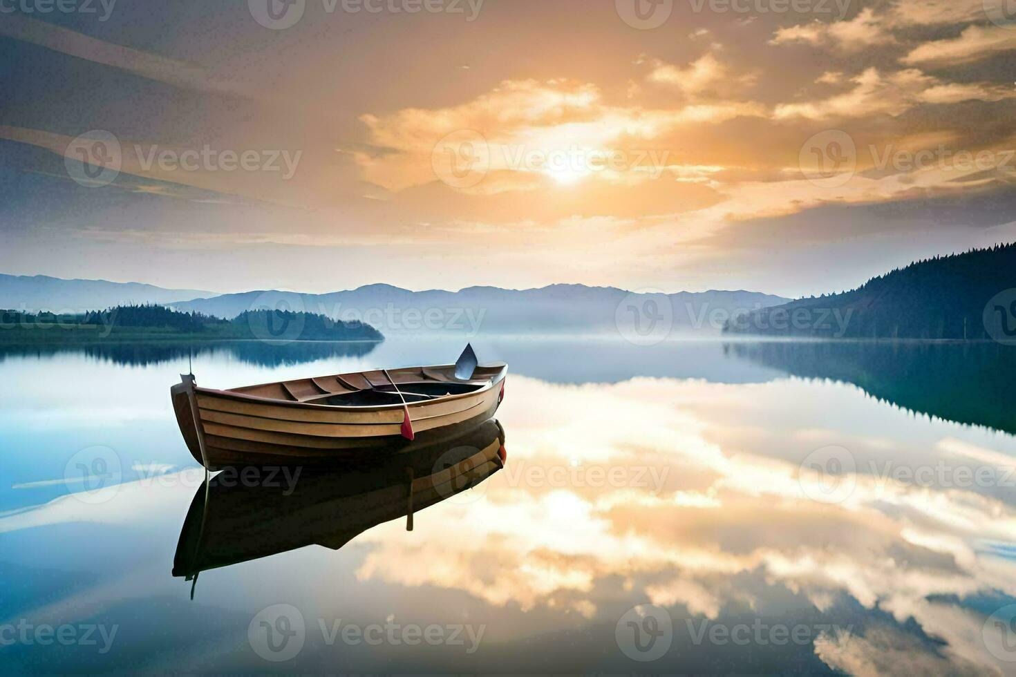
[[180, 362], [189, 356], [238, 359], [255, 366], [288, 366], [333, 357], [362, 357], [377, 348], [371, 342], [295, 341], [216, 341], [180, 342], [102, 342], [74, 344], [0, 344], [0, 362], [9, 357], [46, 358], [77, 354], [118, 365], [144, 366]]

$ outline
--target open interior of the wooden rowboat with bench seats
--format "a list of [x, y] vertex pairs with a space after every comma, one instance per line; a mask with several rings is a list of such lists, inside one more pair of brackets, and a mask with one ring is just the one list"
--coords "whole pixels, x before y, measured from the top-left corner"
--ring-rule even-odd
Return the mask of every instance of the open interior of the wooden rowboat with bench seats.
[[283, 381], [226, 392], [332, 407], [394, 405], [401, 404], [403, 397], [411, 404], [483, 390], [501, 374], [504, 365], [478, 366], [468, 381], [456, 379], [454, 369], [454, 365], [390, 369], [388, 377], [397, 385], [397, 392], [382, 370]]

